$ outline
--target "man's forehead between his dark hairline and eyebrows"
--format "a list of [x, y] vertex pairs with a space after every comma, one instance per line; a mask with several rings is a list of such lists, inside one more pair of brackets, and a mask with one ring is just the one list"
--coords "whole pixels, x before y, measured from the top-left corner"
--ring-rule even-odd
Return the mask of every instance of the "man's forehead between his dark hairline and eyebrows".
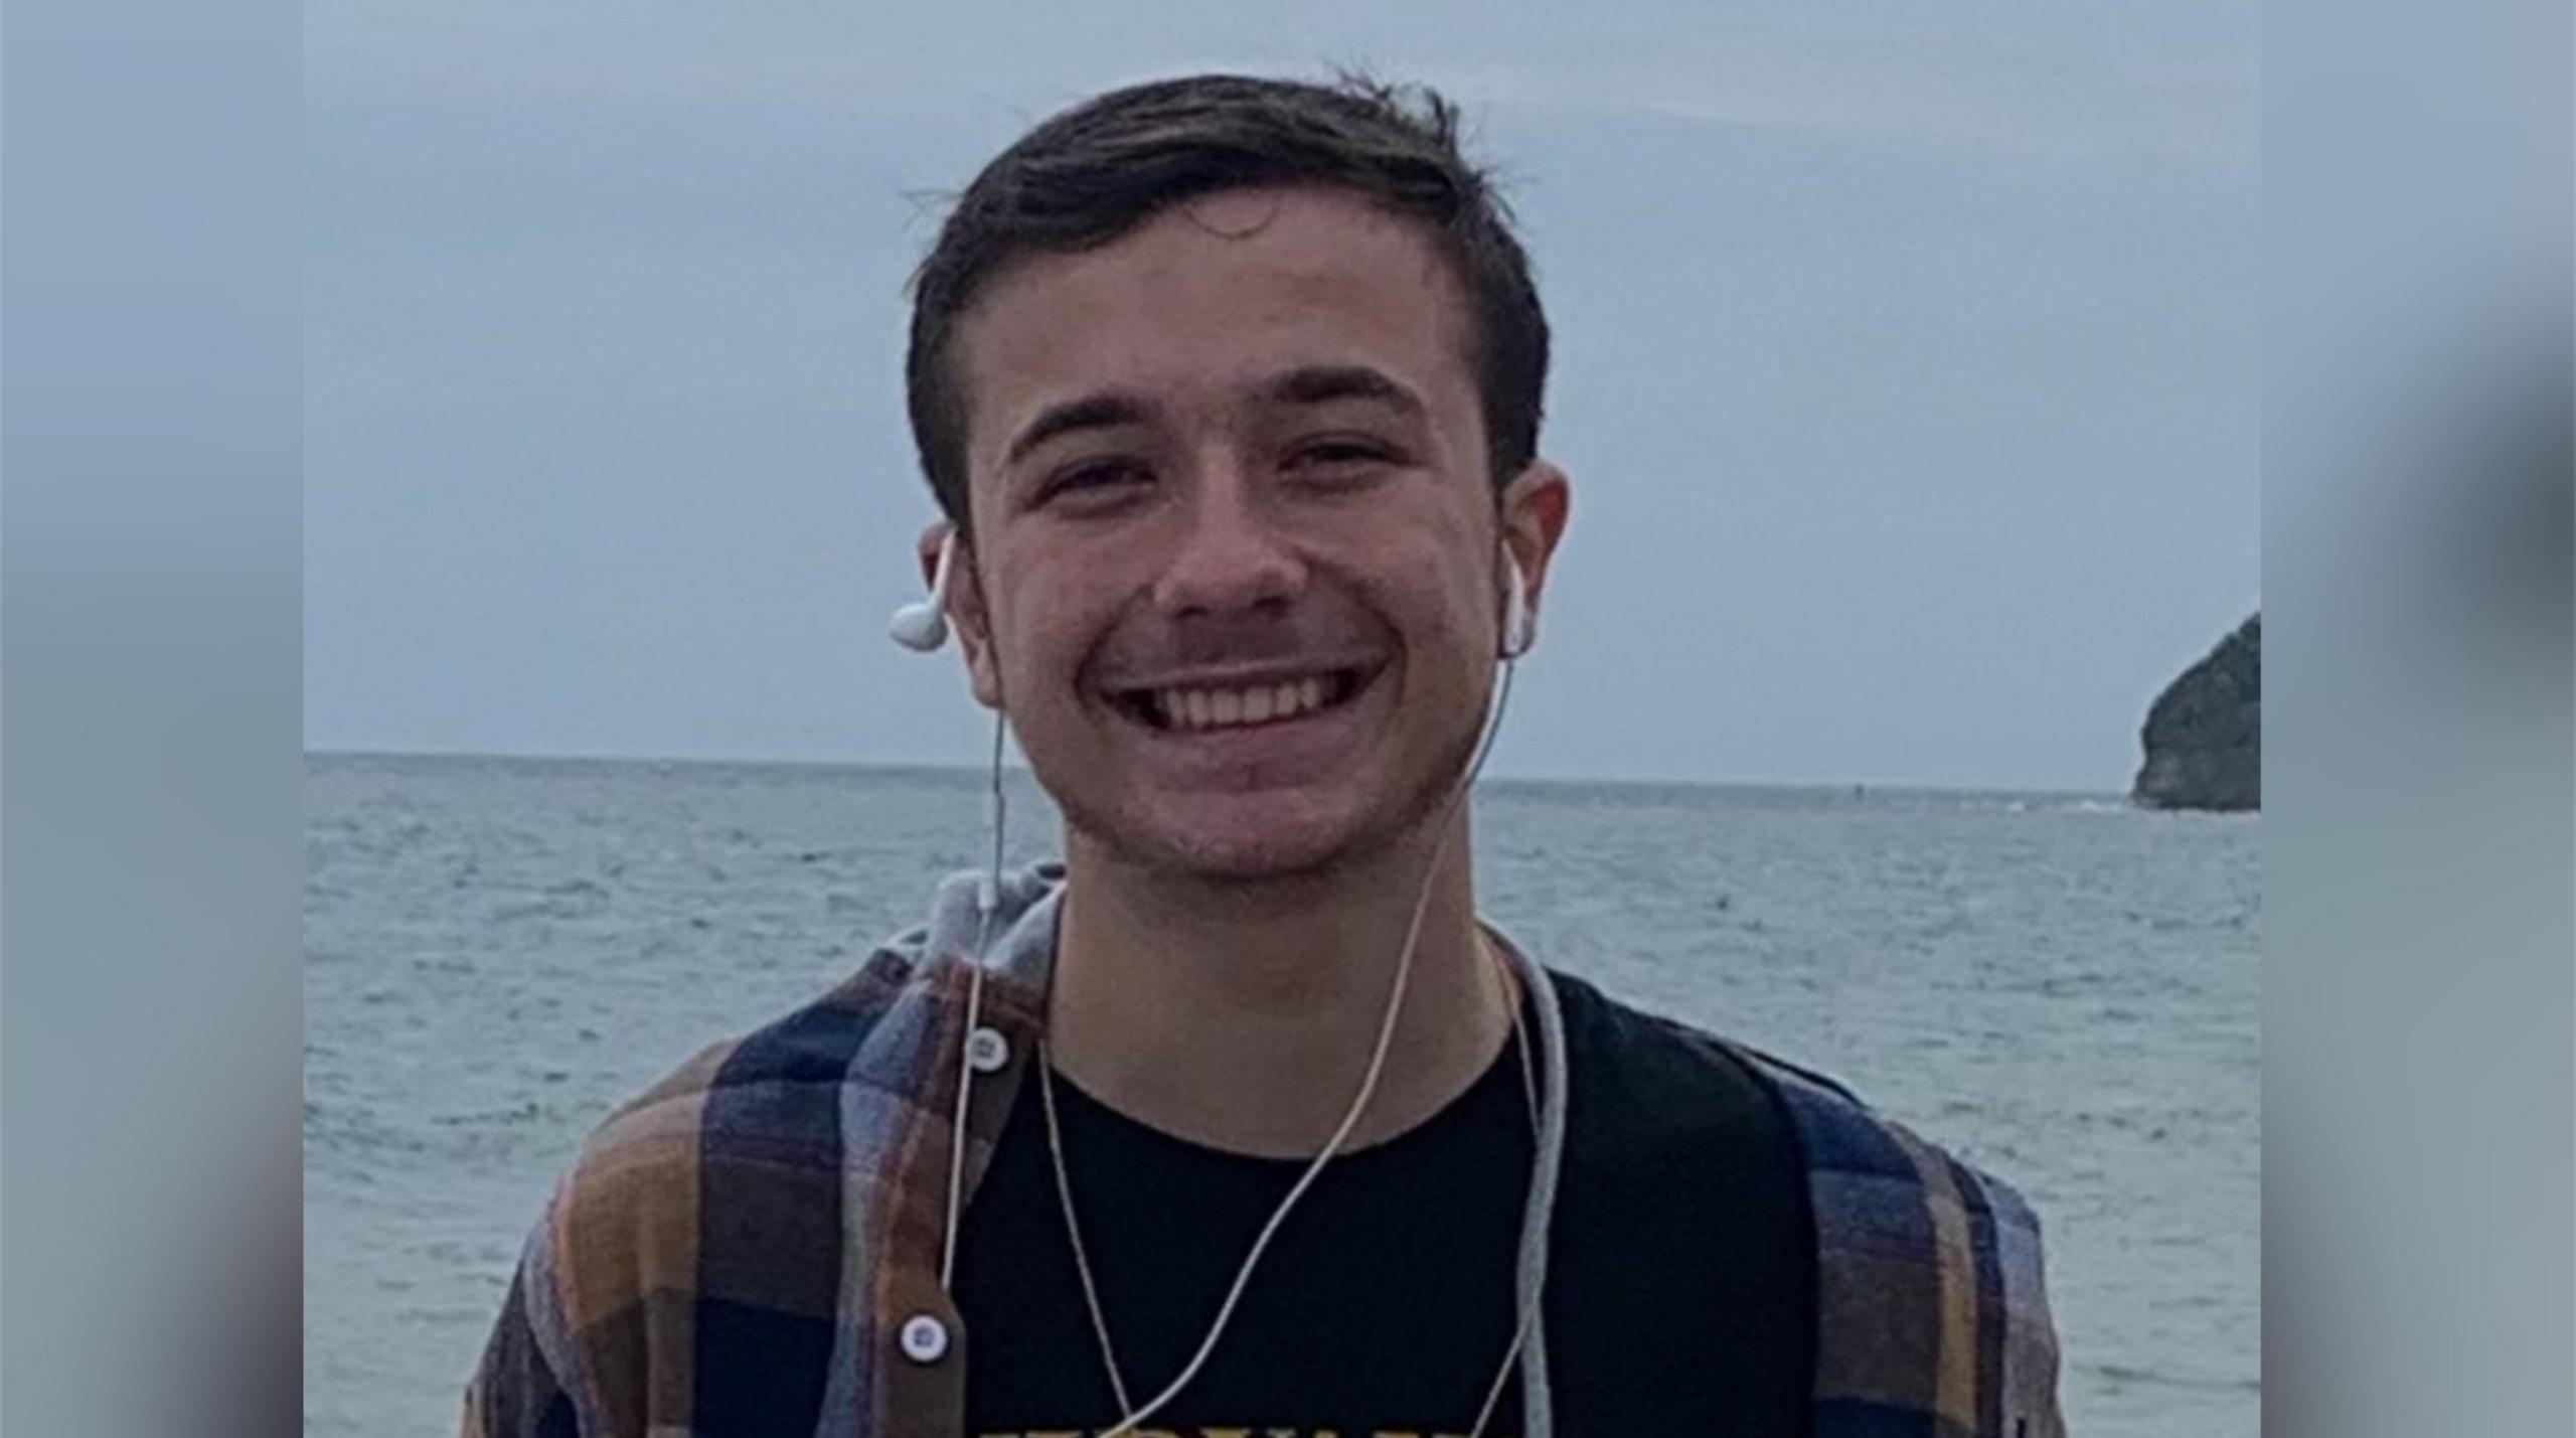
[[1461, 286], [1412, 219], [1319, 188], [1224, 191], [1072, 255], [1028, 255], [958, 327], [969, 456], [1100, 389], [1188, 410], [1288, 369], [1373, 366], [1473, 405]]

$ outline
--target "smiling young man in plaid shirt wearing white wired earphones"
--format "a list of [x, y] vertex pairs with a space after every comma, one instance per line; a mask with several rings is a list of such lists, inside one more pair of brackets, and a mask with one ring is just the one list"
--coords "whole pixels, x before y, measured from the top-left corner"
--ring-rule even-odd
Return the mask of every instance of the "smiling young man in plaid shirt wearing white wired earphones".
[[1435, 95], [1157, 82], [987, 165], [922, 564], [1066, 861], [613, 1116], [466, 1433], [2061, 1433], [2020, 1198], [1476, 920], [1546, 356]]

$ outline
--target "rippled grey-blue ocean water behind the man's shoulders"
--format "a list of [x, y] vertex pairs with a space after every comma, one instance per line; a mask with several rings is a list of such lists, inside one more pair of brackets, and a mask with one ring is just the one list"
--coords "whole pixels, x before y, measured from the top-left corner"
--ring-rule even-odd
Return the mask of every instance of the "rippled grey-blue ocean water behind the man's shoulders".
[[[582, 1134], [981, 853], [974, 773], [307, 760], [304, 1433], [446, 1433]], [[1054, 817], [1015, 776], [1012, 856]], [[2259, 820], [1486, 783], [1484, 907], [2022, 1188], [2087, 1438], [2259, 1433]]]

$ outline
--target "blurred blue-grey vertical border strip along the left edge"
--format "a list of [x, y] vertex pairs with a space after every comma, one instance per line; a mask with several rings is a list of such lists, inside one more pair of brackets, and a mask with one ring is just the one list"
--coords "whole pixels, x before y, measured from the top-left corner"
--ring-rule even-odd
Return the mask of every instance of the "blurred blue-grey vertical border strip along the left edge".
[[301, 13], [0, 13], [0, 1433], [299, 1404]]

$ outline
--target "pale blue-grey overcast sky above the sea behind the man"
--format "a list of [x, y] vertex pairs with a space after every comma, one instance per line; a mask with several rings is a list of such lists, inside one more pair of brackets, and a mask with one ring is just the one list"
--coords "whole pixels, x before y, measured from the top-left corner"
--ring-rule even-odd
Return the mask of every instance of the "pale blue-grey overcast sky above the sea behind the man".
[[884, 642], [935, 193], [1110, 85], [1471, 113], [1577, 482], [1510, 776], [2123, 789], [2259, 603], [2257, 13], [307, 8], [314, 750], [974, 763]]

